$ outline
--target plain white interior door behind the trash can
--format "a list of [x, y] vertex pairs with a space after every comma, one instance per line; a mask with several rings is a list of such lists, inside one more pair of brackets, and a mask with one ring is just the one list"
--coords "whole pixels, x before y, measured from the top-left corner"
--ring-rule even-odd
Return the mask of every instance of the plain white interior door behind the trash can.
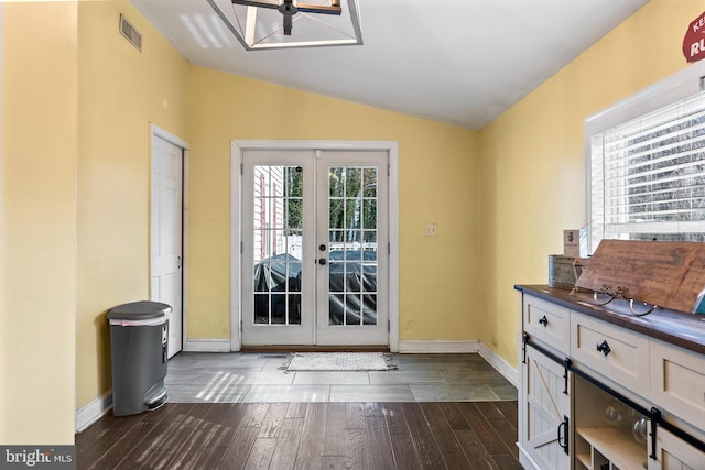
[[169, 304], [169, 357], [182, 350], [183, 149], [152, 138], [151, 283], [152, 300]]

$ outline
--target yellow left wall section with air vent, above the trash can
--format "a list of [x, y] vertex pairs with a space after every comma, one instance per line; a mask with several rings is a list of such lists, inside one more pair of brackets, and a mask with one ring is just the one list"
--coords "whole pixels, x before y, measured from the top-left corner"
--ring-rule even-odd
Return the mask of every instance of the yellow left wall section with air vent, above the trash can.
[[188, 64], [126, 0], [79, 2], [78, 40], [79, 408], [111, 387], [106, 310], [149, 298], [150, 122], [187, 140]]

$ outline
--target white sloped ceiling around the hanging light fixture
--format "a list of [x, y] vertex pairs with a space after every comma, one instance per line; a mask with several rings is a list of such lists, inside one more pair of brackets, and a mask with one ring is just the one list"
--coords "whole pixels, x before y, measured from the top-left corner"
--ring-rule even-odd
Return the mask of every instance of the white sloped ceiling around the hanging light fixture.
[[476, 130], [648, 2], [359, 0], [362, 45], [247, 52], [206, 0], [131, 1], [193, 64]]

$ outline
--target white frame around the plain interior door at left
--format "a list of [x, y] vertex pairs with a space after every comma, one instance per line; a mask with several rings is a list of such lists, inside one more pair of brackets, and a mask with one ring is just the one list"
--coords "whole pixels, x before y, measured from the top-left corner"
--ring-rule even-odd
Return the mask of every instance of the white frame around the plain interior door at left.
[[[160, 128], [159, 125], [154, 124], [154, 123], [150, 123], [150, 200], [149, 200], [149, 205], [150, 205], [150, 211], [152, 208], [152, 145], [153, 145], [153, 141], [154, 138], [160, 138], [165, 140], [166, 142], [176, 145], [177, 147], [180, 147], [182, 150], [182, 206], [181, 206], [181, 217], [182, 217], [182, 223], [181, 223], [181, 285], [182, 285], [182, 289], [181, 289], [181, 350], [182, 351], [187, 351], [188, 350], [188, 342], [187, 342], [187, 334], [186, 331], [188, 331], [188, 314], [186, 311], [186, 305], [187, 305], [187, 292], [188, 292], [188, 283], [187, 283], [187, 272], [188, 272], [188, 211], [186, 210], [186, 207], [188, 207], [188, 152], [189, 152], [189, 144], [188, 142], [184, 141], [183, 139], [180, 139], [178, 136], [172, 134], [171, 132]], [[148, 239], [150, 240], [150, 242], [148, 243], [148, 247], [151, 243], [151, 230], [152, 230], [152, 218], [151, 218], [151, 214], [150, 214], [150, 222], [149, 222], [149, 228], [150, 231], [148, 232]], [[152, 292], [152, 264], [151, 264], [151, 256], [150, 256], [150, 272], [148, 274], [148, 291], [147, 292]]]

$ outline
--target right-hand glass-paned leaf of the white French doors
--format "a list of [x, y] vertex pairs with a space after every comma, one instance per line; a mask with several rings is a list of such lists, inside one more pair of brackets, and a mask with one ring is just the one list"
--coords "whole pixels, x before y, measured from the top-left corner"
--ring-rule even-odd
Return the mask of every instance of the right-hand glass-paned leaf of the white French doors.
[[[318, 345], [387, 345], [387, 152], [321, 152], [317, 160]], [[321, 258], [319, 258], [321, 260]]]

